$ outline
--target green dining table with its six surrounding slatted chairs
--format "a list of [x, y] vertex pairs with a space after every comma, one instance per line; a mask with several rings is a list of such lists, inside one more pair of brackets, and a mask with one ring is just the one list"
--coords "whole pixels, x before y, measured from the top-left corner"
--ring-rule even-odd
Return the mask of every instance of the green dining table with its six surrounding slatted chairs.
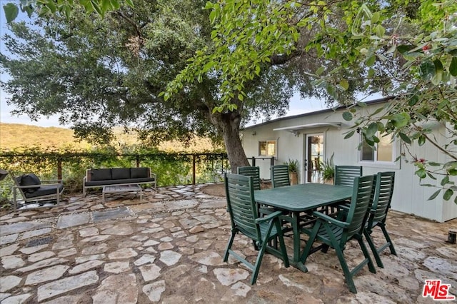
[[[251, 283], [256, 282], [264, 252], [283, 260], [286, 267], [307, 272], [306, 260], [318, 250], [326, 253], [336, 250], [343, 269], [346, 284], [357, 293], [353, 276], [363, 266], [376, 273], [376, 268], [363, 239], [368, 242], [378, 267], [383, 268], [380, 253], [389, 248], [396, 251], [386, 230], [386, 216], [393, 193], [394, 173], [381, 172], [375, 176], [362, 176], [359, 166], [336, 166], [334, 184], [306, 183], [290, 186], [287, 166], [271, 167], [273, 188], [260, 190], [258, 167], [240, 167], [238, 174], [226, 174], [226, 198], [231, 216], [231, 238], [224, 260], [232, 254], [253, 269]], [[386, 243], [376, 248], [371, 233], [381, 228]], [[293, 254], [286, 253], [283, 240], [291, 232]], [[260, 248], [255, 265], [233, 252], [231, 246], [237, 233], [242, 233]], [[308, 235], [301, 248], [301, 235]], [[344, 248], [350, 240], [357, 240], [363, 260], [352, 270], [344, 256]], [[319, 245], [316, 246], [316, 242]], [[279, 249], [278, 249], [279, 244]]]

